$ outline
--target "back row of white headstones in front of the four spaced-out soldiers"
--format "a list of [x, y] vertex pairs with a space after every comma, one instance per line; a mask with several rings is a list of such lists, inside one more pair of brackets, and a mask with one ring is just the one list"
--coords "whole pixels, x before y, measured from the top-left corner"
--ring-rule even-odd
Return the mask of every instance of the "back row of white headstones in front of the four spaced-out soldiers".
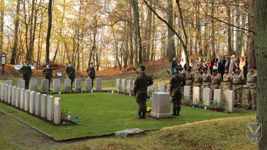
[[[95, 79], [96, 85], [95, 90], [101, 91], [102, 89], [102, 79], [96, 78]], [[5, 84], [8, 83], [8, 85], [12, 85], [12, 80], [5, 80]], [[19, 88], [25, 89], [25, 80], [21, 79], [17, 81], [17, 84]], [[92, 89], [92, 79], [87, 78], [86, 79], [86, 87], [85, 92], [90, 92]], [[29, 84], [29, 90], [30, 91], [38, 91], [37, 86], [37, 79], [31, 79]], [[49, 90], [49, 80], [48, 79], [42, 79], [42, 88], [41, 93], [46, 93]], [[58, 93], [60, 90], [60, 79], [53, 79], [53, 93]], [[71, 90], [71, 79], [64, 79], [64, 91], [69, 92]], [[75, 92], [81, 92], [82, 91], [82, 79], [76, 78], [75, 79]]]

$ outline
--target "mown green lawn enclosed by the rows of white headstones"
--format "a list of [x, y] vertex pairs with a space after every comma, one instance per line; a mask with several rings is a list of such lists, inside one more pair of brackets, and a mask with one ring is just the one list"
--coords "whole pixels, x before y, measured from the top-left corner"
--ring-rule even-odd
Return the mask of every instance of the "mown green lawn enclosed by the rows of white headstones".
[[[71, 112], [72, 121], [75, 120], [76, 115], [79, 117], [79, 125], [53, 126], [3, 103], [0, 103], [0, 110], [41, 129], [50, 134], [55, 140], [108, 135], [131, 128], [159, 130], [163, 127], [201, 120], [256, 114], [256, 112], [237, 109], [235, 110], [237, 113], [227, 114], [181, 106], [181, 116], [173, 119], [156, 120], [147, 118], [136, 120], [134, 116], [136, 115], [137, 105], [134, 97], [111, 93], [79, 93], [53, 96], [61, 98], [61, 109]], [[147, 106], [151, 106], [150, 101], [147, 102]]]

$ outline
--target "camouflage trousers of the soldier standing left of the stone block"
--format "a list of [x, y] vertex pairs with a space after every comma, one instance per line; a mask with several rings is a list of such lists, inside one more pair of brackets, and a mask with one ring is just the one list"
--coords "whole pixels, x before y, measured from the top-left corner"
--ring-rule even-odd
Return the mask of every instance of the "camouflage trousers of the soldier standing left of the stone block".
[[147, 98], [147, 93], [144, 94], [136, 94], [135, 99], [138, 105], [138, 110], [137, 114], [139, 117], [145, 116], [146, 113], [146, 98]]

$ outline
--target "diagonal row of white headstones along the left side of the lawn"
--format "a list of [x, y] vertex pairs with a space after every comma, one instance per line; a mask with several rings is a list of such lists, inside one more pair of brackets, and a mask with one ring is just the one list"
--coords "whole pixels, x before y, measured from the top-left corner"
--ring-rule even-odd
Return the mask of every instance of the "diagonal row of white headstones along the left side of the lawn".
[[0, 83], [0, 100], [16, 108], [60, 124], [61, 99], [12, 86], [10, 80]]

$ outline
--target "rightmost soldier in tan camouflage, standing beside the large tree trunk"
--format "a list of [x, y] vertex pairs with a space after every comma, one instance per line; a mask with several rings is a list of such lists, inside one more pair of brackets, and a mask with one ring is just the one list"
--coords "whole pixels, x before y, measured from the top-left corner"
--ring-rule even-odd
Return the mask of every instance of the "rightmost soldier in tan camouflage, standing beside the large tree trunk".
[[247, 75], [247, 94], [248, 94], [248, 108], [246, 110], [252, 111], [257, 110], [257, 99], [256, 99], [256, 86], [257, 86], [257, 72], [252, 66], [249, 69], [249, 73]]

